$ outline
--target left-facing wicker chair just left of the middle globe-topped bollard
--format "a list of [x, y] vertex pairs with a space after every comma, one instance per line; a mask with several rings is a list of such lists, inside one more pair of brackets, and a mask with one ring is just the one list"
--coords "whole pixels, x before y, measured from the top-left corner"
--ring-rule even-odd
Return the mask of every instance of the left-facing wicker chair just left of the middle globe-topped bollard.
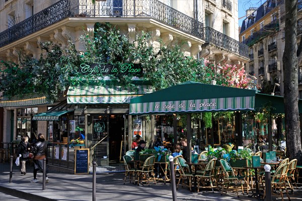
[[145, 177], [148, 180], [148, 186], [150, 186], [150, 176], [153, 176], [156, 184], [156, 179], [154, 174], [154, 163], [155, 163], [155, 156], [150, 156], [144, 161], [141, 169], [136, 170], [137, 185], [139, 185], [139, 178]]

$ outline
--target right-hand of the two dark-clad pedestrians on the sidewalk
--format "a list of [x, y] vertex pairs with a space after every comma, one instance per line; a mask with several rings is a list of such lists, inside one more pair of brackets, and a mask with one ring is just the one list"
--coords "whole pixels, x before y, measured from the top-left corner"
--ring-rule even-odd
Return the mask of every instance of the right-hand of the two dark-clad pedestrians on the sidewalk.
[[[43, 172], [43, 160], [47, 159], [47, 143], [45, 142], [44, 136], [42, 133], [38, 135], [38, 142], [34, 145], [32, 150], [34, 155], [34, 179], [31, 181], [32, 183], [38, 182], [37, 180], [37, 172], [40, 170]], [[46, 168], [46, 167], [45, 167]], [[47, 168], [46, 168], [47, 173]], [[48, 177], [46, 174], [46, 183], [48, 183]]]

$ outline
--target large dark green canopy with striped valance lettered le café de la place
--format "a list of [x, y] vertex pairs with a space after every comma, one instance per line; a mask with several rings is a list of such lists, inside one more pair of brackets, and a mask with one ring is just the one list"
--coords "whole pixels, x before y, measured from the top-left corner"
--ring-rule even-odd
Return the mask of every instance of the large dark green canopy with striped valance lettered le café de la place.
[[255, 90], [188, 81], [130, 101], [130, 114], [254, 110]]

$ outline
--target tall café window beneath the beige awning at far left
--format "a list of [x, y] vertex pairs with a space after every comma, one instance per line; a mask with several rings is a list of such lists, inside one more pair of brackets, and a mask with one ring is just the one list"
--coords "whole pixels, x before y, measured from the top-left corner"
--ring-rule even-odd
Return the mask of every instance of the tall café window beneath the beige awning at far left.
[[37, 121], [32, 121], [32, 116], [37, 113], [37, 107], [17, 109], [17, 133], [14, 140], [21, 140], [23, 136], [33, 138], [37, 135]]

